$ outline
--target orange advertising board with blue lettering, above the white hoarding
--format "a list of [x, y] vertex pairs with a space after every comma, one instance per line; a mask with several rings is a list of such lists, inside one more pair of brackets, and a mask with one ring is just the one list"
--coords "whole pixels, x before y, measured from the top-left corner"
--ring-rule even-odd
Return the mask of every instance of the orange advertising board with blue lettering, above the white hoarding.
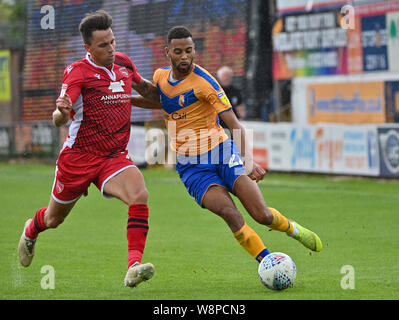
[[309, 123], [385, 123], [383, 81], [309, 84]]

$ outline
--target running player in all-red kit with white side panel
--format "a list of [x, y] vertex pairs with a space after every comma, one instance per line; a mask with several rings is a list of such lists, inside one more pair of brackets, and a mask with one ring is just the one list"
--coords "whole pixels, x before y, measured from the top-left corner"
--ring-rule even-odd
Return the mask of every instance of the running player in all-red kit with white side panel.
[[148, 232], [148, 193], [126, 149], [130, 97], [132, 87], [150, 100], [159, 101], [159, 95], [130, 58], [115, 51], [111, 26], [112, 17], [102, 10], [88, 14], [80, 23], [87, 55], [66, 68], [53, 113], [56, 126], [72, 120], [68, 138], [57, 159], [50, 203], [26, 222], [18, 251], [21, 264], [29, 266], [38, 234], [62, 223], [94, 183], [105, 197], [116, 197], [128, 206], [124, 283], [135, 287], [152, 277], [154, 266], [141, 264]]

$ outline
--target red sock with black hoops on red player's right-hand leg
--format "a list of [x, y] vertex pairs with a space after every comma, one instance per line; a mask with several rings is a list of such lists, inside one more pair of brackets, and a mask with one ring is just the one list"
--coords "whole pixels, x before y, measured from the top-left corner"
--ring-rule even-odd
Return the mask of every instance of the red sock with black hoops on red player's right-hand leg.
[[141, 262], [148, 233], [148, 206], [132, 204], [129, 206], [127, 222], [128, 268], [136, 261]]

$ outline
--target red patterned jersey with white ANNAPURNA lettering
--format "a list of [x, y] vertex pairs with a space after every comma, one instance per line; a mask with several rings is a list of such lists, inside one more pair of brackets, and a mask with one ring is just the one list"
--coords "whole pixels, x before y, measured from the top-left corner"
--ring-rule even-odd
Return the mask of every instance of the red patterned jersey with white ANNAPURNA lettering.
[[130, 138], [132, 81], [141, 77], [131, 59], [116, 52], [110, 68], [96, 65], [89, 54], [64, 71], [60, 95], [72, 99], [72, 123], [64, 147], [100, 156], [126, 150]]

